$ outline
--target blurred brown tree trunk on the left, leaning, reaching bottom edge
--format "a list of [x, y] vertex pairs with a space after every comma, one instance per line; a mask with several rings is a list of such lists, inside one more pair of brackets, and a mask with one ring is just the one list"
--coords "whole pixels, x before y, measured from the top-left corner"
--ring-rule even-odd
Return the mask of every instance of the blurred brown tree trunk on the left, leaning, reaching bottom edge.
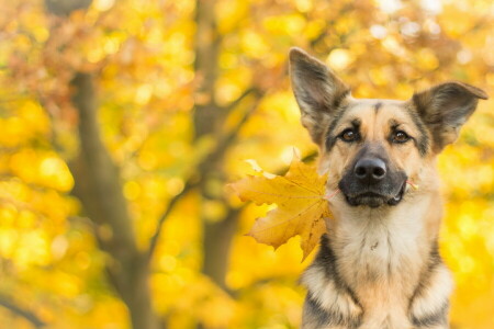
[[119, 169], [101, 140], [92, 77], [79, 72], [72, 86], [80, 141], [79, 156], [70, 163], [76, 182], [74, 194], [94, 223], [101, 249], [109, 254], [108, 275], [128, 308], [133, 328], [157, 329], [148, 285], [148, 259], [136, 247]]

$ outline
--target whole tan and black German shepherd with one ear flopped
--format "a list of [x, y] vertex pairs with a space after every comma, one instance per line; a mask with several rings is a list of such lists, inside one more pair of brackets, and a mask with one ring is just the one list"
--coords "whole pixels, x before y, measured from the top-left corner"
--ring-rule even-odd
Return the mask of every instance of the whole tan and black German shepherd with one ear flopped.
[[355, 99], [299, 48], [290, 52], [290, 75], [327, 192], [340, 192], [329, 200], [334, 217], [302, 276], [302, 328], [449, 328], [453, 284], [438, 252], [435, 162], [486, 93], [446, 82], [407, 101]]

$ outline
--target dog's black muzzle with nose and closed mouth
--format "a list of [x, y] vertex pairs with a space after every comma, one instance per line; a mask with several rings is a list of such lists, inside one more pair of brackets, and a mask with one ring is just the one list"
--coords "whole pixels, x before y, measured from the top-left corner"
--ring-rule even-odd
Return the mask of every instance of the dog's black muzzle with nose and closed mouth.
[[364, 157], [350, 168], [339, 182], [348, 204], [379, 207], [397, 205], [405, 193], [406, 174], [390, 170], [379, 157]]

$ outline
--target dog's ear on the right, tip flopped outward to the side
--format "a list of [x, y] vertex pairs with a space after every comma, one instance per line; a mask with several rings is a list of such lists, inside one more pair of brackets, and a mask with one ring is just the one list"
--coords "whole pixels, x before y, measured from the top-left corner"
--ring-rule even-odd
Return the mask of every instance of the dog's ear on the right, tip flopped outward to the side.
[[479, 99], [487, 94], [462, 82], [446, 82], [415, 93], [412, 102], [433, 136], [433, 149], [439, 152], [453, 143], [461, 126], [475, 111]]

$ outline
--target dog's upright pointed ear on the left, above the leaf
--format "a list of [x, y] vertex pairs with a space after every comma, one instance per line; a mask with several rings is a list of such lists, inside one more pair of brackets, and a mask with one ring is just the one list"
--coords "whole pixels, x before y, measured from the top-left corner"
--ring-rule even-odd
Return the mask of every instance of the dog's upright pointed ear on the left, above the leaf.
[[290, 78], [302, 125], [321, 145], [332, 114], [350, 90], [326, 65], [300, 48], [290, 49]]

